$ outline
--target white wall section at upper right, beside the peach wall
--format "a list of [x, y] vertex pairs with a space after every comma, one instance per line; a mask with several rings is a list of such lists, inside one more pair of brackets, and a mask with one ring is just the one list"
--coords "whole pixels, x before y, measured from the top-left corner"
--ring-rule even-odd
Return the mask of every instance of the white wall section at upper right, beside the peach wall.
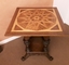
[[69, 25], [69, 0], [54, 0], [53, 6], [57, 6], [64, 23]]

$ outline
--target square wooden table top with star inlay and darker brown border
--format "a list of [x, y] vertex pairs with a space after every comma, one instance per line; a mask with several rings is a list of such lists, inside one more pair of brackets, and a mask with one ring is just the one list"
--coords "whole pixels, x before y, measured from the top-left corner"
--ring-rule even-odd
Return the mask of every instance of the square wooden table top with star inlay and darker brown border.
[[63, 24], [57, 8], [17, 8], [5, 35], [60, 36]]

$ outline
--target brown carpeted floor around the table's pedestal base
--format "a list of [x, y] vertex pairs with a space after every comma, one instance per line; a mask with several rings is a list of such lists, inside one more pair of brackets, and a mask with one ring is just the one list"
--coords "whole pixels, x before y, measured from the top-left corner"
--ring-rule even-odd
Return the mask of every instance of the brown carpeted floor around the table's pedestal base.
[[69, 65], [68, 37], [51, 37], [49, 50], [53, 61], [44, 55], [31, 55], [23, 62], [20, 57], [25, 54], [25, 44], [20, 37], [4, 44], [4, 50], [0, 53], [0, 65]]

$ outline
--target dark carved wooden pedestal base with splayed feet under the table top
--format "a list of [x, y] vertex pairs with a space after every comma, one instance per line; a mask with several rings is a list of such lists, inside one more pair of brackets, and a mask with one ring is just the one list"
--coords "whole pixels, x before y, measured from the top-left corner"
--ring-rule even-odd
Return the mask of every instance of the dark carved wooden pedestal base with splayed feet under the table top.
[[25, 37], [26, 54], [22, 57], [25, 61], [30, 55], [45, 55], [50, 61], [53, 57], [49, 54], [50, 37]]

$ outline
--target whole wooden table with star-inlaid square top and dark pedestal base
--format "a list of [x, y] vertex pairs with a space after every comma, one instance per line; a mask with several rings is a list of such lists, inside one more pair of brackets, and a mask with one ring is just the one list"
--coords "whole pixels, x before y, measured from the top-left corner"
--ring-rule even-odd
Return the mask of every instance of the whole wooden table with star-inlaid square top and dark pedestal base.
[[31, 54], [49, 54], [51, 36], [64, 36], [64, 23], [57, 8], [17, 8], [5, 36], [24, 36], [26, 60]]

